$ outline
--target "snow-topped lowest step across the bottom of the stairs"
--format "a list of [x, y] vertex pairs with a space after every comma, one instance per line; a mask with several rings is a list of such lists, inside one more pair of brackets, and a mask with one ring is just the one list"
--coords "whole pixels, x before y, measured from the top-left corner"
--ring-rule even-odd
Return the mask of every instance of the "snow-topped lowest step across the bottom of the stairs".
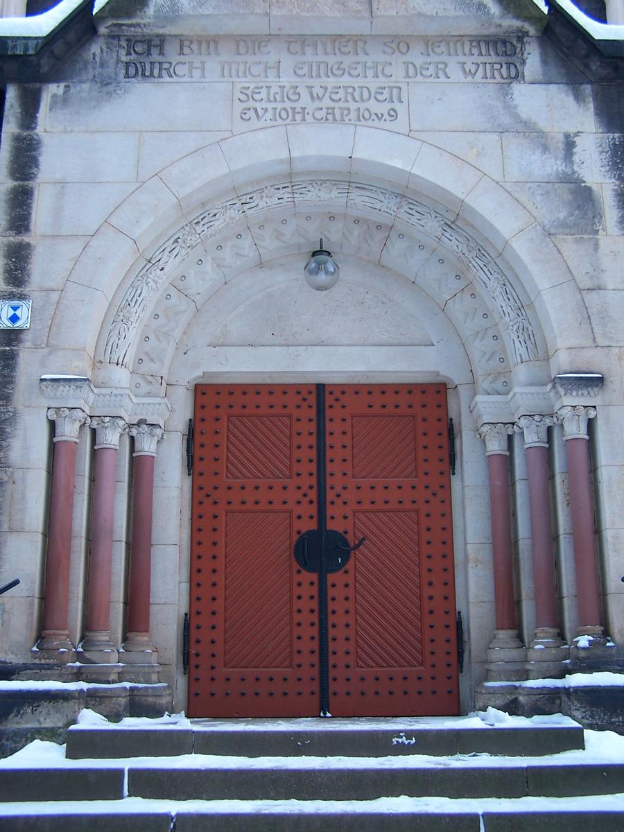
[[565, 800], [118, 801], [5, 804], [3, 832], [622, 832], [624, 795]]

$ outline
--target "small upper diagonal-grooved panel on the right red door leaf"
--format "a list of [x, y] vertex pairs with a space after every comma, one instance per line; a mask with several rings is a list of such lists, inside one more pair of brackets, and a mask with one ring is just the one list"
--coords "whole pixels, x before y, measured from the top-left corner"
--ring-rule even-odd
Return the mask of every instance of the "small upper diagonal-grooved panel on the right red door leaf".
[[414, 427], [413, 416], [353, 416], [354, 477], [415, 477]]

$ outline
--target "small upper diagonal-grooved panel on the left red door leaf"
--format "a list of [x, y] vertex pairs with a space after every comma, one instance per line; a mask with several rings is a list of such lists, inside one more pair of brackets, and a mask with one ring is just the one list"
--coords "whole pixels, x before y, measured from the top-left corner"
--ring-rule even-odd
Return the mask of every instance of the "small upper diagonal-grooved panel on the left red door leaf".
[[228, 417], [226, 477], [289, 478], [290, 416]]

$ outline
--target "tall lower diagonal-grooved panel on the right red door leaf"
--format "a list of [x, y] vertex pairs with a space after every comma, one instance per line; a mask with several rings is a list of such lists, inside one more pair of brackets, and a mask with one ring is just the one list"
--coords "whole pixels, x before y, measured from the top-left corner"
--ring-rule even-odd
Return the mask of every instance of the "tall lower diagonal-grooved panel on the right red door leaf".
[[423, 664], [418, 513], [356, 512], [366, 537], [355, 563], [359, 667]]

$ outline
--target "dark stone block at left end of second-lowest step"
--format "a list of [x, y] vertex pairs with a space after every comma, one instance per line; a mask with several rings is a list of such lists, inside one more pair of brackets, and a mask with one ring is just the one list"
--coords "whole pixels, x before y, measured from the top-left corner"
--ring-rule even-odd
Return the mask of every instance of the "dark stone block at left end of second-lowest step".
[[5, 769], [0, 801], [121, 800], [123, 769]]

